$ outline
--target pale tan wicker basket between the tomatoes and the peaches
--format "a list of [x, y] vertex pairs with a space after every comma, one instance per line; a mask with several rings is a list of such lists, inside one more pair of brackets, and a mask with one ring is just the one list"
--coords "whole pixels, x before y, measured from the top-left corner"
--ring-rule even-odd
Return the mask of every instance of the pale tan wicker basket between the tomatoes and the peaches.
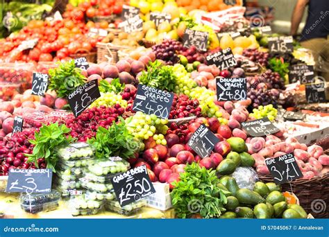
[[133, 49], [130, 46], [121, 46], [111, 43], [97, 43], [97, 63], [110, 62], [116, 64], [119, 61], [119, 50]]

